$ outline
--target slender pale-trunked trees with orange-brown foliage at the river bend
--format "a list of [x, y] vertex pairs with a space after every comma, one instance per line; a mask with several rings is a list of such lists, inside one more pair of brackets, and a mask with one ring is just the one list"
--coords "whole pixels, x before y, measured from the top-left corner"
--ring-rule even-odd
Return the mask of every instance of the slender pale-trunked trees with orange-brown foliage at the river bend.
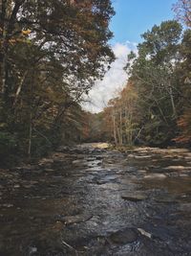
[[103, 127], [108, 134], [107, 137], [116, 145], [132, 146], [135, 140], [138, 140], [138, 92], [132, 81], [127, 83], [117, 98], [108, 103], [103, 116]]

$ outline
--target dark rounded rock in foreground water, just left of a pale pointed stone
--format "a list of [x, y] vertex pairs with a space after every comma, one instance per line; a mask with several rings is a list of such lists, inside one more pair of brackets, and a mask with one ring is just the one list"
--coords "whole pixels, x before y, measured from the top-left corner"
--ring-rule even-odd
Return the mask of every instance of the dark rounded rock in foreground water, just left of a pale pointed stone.
[[109, 240], [114, 244], [129, 244], [138, 240], [138, 231], [135, 228], [124, 228], [110, 235]]

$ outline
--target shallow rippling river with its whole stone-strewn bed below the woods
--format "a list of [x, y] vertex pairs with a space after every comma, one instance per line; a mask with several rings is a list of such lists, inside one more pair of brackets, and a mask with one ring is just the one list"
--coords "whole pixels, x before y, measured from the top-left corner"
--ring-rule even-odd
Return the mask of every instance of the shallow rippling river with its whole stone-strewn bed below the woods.
[[191, 152], [61, 147], [0, 172], [0, 255], [191, 255]]

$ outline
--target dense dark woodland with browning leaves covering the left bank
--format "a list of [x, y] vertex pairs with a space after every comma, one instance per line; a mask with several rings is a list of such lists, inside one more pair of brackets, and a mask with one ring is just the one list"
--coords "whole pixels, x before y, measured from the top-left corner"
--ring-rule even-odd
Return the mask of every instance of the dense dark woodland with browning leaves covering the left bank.
[[2, 0], [0, 155], [36, 157], [78, 140], [80, 103], [114, 60], [110, 0]]

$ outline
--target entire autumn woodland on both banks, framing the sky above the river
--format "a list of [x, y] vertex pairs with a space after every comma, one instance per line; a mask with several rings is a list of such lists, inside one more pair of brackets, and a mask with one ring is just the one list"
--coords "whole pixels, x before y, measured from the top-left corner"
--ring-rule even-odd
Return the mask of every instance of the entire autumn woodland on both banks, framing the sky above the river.
[[110, 0], [2, 0], [0, 3], [0, 157], [33, 158], [60, 143], [191, 143], [191, 6], [177, 21], [142, 35], [128, 56], [129, 80], [103, 112], [80, 104], [115, 56]]

